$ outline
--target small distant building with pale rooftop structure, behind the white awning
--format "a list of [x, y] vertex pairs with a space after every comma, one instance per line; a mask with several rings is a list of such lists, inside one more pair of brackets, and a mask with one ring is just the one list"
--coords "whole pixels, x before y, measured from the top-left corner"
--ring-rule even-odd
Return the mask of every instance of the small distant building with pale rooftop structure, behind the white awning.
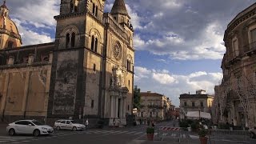
[[206, 94], [206, 90], [197, 90], [196, 94], [181, 94], [180, 117], [185, 118], [189, 111], [211, 112], [214, 95]]

